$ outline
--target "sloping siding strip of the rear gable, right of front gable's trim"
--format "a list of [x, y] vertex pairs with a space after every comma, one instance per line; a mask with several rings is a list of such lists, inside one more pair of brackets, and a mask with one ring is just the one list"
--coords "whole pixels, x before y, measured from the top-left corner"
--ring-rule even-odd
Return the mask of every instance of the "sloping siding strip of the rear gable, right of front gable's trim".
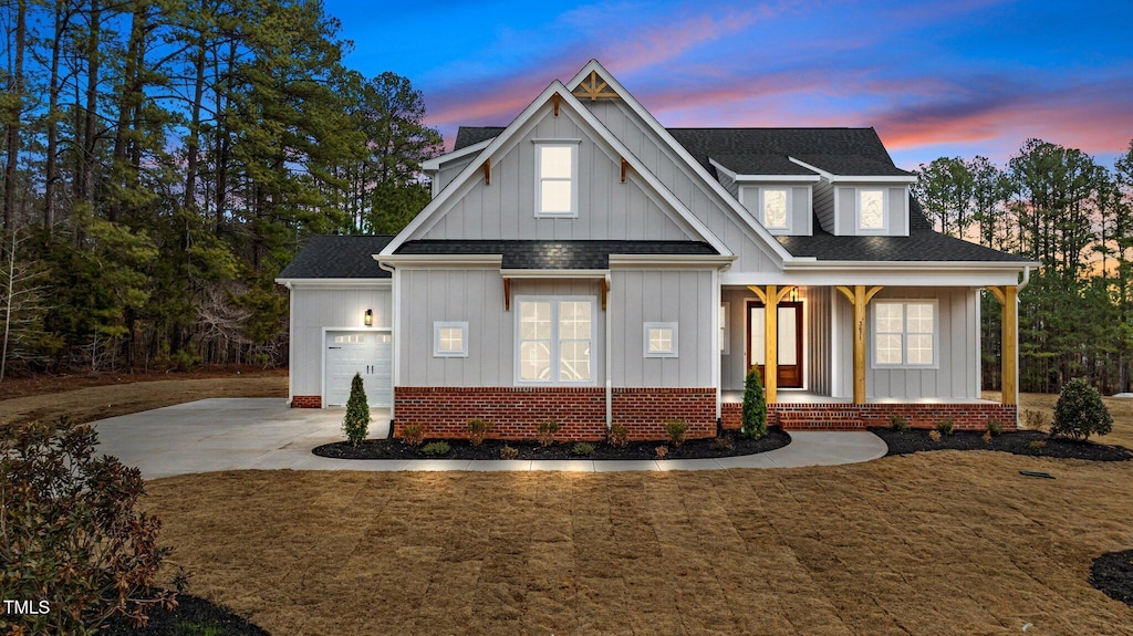
[[731, 272], [776, 272], [780, 257], [769, 251], [751, 227], [735, 218], [727, 203], [714, 188], [641, 122], [621, 100], [582, 102], [619, 140], [633, 153], [646, 169], [708, 230], [724, 242], [738, 257]]

